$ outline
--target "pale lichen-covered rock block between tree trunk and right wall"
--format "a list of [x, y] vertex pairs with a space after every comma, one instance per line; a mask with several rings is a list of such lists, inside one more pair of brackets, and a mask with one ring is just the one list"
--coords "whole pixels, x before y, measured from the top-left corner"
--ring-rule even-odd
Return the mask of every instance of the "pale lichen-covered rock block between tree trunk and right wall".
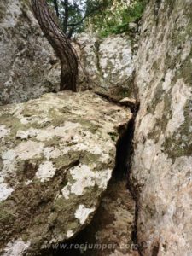
[[98, 39], [82, 33], [76, 40], [79, 52], [79, 86], [122, 98], [133, 95], [134, 69], [131, 38], [121, 34]]

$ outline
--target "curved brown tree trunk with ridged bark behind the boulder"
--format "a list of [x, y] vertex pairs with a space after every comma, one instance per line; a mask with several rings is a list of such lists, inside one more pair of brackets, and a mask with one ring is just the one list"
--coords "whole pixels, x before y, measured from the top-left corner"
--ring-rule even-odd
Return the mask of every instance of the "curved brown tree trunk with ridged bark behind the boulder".
[[76, 91], [78, 59], [70, 40], [49, 13], [46, 0], [32, 0], [32, 9], [45, 37], [61, 61], [61, 90]]

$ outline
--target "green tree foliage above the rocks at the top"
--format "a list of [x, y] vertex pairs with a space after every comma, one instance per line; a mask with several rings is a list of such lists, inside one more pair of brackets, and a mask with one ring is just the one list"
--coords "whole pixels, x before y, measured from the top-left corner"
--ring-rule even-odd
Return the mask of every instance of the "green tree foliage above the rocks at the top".
[[101, 37], [128, 32], [131, 22], [138, 22], [147, 0], [47, 0], [55, 9], [63, 32], [84, 32], [87, 28]]

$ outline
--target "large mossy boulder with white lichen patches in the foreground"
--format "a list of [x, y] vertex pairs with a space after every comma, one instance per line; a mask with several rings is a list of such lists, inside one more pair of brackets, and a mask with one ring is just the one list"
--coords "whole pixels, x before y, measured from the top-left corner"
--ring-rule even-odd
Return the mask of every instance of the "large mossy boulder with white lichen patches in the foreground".
[[131, 112], [66, 91], [3, 106], [0, 119], [0, 248], [34, 255], [90, 222]]

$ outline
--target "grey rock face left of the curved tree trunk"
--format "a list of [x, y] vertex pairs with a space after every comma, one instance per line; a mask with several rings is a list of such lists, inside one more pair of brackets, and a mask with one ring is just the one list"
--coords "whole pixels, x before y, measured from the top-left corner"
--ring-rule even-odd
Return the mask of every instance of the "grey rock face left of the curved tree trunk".
[[0, 105], [59, 89], [58, 61], [29, 2], [0, 2]]

